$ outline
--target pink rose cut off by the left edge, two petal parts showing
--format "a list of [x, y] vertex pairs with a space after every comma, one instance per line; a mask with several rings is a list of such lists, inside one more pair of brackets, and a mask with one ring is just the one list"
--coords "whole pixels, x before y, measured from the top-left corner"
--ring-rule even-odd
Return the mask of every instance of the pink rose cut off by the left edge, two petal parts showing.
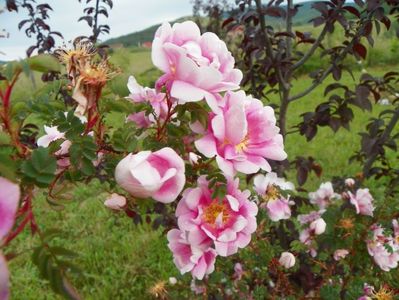
[[[19, 186], [0, 177], [0, 245], [14, 225], [20, 198]], [[7, 262], [0, 251], [0, 299], [9, 298], [9, 272]]]

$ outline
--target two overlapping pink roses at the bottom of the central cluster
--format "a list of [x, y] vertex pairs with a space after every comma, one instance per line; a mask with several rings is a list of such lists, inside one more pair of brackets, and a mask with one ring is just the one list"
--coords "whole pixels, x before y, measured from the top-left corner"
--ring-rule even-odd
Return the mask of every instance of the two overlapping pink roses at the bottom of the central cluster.
[[229, 256], [246, 247], [256, 230], [257, 205], [250, 192], [238, 189], [238, 179], [228, 179], [223, 199], [212, 198], [205, 177], [183, 192], [176, 209], [179, 229], [168, 233], [169, 248], [181, 273], [191, 271], [202, 279], [214, 270], [217, 255]]

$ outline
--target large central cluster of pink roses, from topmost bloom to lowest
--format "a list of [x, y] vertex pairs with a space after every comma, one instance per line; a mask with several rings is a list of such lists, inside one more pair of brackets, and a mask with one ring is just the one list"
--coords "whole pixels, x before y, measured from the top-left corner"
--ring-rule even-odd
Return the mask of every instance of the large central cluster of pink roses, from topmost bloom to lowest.
[[[181, 273], [191, 272], [202, 279], [214, 270], [216, 256], [229, 256], [246, 247], [257, 227], [258, 207], [249, 199], [249, 191], [239, 190], [239, 180], [234, 176], [237, 172], [254, 174], [260, 169], [270, 172], [268, 160], [284, 160], [287, 154], [274, 110], [243, 91], [234, 91], [240, 87], [242, 73], [234, 68], [233, 56], [215, 34], [201, 34], [191, 21], [173, 26], [165, 23], [155, 34], [152, 60], [164, 72], [155, 89], [140, 86], [133, 77], [128, 82], [128, 99], [148, 103], [152, 112], [137, 112], [127, 119], [139, 127], [154, 125], [159, 129], [160, 124], [173, 121], [177, 105], [205, 100], [210, 108], [207, 129], [198, 122], [190, 124], [193, 135], [183, 138], [183, 142], [188, 146], [196, 134], [201, 135], [195, 147], [205, 157], [216, 159], [227, 180], [223, 199], [212, 197], [215, 187], [210, 188], [205, 177], [198, 179], [196, 187], [187, 188], [176, 209], [178, 228], [167, 236]], [[199, 158], [194, 152], [188, 154], [193, 165]], [[185, 185], [184, 171], [178, 154], [163, 148], [129, 154], [119, 162], [115, 178], [134, 197], [170, 203]], [[267, 177], [270, 184], [293, 189], [291, 183], [282, 184], [274, 173], [266, 176], [271, 176]], [[268, 187], [262, 185], [259, 191], [263, 189], [263, 196]], [[269, 202], [273, 220], [290, 217], [288, 198]], [[105, 204], [119, 209], [126, 202], [113, 195]]]

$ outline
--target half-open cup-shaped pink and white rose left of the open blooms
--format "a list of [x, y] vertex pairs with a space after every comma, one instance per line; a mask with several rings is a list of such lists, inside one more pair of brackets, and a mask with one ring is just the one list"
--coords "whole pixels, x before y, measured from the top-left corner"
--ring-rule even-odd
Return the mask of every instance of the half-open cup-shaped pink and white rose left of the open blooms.
[[116, 182], [132, 196], [170, 203], [186, 182], [184, 161], [171, 148], [129, 154], [115, 169]]

